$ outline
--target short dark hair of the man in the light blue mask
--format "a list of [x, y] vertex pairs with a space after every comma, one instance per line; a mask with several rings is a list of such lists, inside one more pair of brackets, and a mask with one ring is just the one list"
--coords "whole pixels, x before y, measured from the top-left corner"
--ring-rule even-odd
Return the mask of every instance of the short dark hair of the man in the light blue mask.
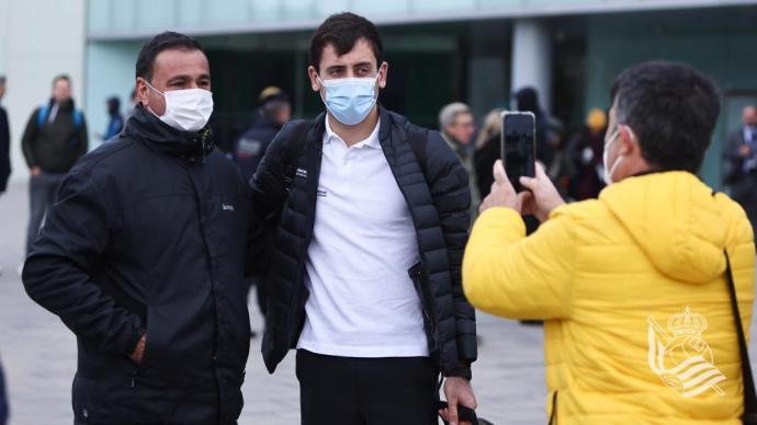
[[342, 56], [350, 53], [360, 39], [364, 39], [371, 45], [373, 55], [376, 57], [376, 66], [381, 66], [384, 61], [384, 46], [381, 43], [376, 26], [371, 21], [354, 13], [332, 14], [318, 26], [313, 38], [310, 38], [310, 65], [320, 71], [318, 66], [326, 46], [332, 45], [337, 55]]

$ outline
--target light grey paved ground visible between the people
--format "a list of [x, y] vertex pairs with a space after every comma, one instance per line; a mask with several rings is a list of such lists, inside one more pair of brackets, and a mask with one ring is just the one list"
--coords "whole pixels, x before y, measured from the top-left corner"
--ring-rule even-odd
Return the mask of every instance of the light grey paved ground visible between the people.
[[[0, 354], [11, 401], [11, 425], [70, 424], [70, 386], [76, 343], [57, 318], [24, 294], [16, 268], [22, 261], [26, 191], [12, 185], [0, 197]], [[260, 331], [260, 315], [251, 314]], [[542, 329], [479, 315], [483, 344], [474, 368], [479, 415], [497, 425], [536, 425], [544, 415]], [[260, 340], [247, 365], [246, 405], [240, 424], [298, 424], [297, 383], [292, 355], [269, 376], [259, 355]], [[752, 353], [757, 351], [753, 344]]]

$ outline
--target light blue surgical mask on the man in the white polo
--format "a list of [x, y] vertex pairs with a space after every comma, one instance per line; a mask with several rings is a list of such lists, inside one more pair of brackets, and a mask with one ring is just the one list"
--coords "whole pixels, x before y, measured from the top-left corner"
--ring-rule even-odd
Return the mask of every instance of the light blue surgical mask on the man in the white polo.
[[376, 104], [376, 81], [380, 74], [375, 78], [340, 78], [326, 81], [318, 77], [318, 82], [326, 92], [320, 97], [328, 112], [338, 122], [348, 126], [362, 123]]

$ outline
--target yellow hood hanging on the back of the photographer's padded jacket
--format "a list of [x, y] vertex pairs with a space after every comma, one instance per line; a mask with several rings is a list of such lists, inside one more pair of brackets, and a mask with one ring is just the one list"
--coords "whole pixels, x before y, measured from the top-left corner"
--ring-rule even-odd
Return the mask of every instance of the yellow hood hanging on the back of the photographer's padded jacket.
[[703, 284], [725, 269], [727, 222], [712, 189], [686, 172], [625, 179], [599, 195], [655, 268]]

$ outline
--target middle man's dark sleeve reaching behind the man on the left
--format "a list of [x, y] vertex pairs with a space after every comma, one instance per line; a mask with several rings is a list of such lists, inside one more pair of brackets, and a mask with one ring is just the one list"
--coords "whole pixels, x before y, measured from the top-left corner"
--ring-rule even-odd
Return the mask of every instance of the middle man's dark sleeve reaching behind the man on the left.
[[290, 122], [273, 138], [260, 160], [258, 170], [250, 180], [252, 187], [252, 207], [258, 217], [269, 225], [286, 202], [292, 175], [287, 166], [287, 146], [291, 133], [296, 123]]

